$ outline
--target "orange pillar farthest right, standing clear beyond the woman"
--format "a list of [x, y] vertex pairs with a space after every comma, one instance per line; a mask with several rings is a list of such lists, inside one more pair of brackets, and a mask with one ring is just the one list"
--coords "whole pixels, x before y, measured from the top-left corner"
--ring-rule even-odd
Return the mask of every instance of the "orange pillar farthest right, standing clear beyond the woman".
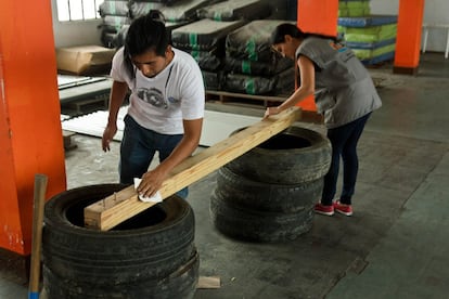
[[420, 64], [425, 0], [400, 0], [393, 73], [415, 75]]

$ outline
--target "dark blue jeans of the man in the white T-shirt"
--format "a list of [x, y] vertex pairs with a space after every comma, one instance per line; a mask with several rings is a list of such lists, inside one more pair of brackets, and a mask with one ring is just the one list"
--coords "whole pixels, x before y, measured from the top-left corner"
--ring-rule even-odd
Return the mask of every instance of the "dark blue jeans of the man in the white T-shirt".
[[[156, 151], [159, 162], [166, 159], [182, 139], [182, 134], [167, 135], [141, 127], [131, 116], [125, 116], [125, 130], [120, 144], [120, 164], [118, 172], [120, 183], [133, 184], [134, 178], [141, 178], [149, 171]], [[187, 198], [189, 190], [184, 187], [177, 195]]]

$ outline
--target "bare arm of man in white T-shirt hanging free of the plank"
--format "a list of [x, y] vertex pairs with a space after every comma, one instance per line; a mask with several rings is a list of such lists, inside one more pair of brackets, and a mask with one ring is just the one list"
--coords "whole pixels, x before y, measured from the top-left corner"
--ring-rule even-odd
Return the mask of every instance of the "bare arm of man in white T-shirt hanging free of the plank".
[[104, 152], [111, 151], [110, 143], [117, 133], [117, 115], [125, 101], [128, 92], [128, 84], [126, 82], [114, 81], [111, 89], [110, 96], [110, 116], [107, 125], [103, 132], [102, 147]]

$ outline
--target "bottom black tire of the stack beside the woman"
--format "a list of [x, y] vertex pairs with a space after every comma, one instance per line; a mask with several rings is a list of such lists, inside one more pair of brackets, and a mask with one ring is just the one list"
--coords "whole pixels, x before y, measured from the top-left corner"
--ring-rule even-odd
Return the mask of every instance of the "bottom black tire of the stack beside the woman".
[[209, 207], [211, 221], [219, 232], [249, 242], [296, 239], [311, 229], [313, 220], [313, 205], [290, 213], [256, 211], [232, 205], [213, 193]]

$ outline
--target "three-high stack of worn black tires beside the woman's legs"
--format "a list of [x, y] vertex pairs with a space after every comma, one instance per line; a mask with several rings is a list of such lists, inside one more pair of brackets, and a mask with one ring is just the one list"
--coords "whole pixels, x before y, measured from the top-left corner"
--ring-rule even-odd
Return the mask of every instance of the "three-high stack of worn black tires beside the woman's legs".
[[291, 127], [218, 170], [213, 223], [238, 239], [295, 239], [312, 225], [330, 165], [328, 138]]

